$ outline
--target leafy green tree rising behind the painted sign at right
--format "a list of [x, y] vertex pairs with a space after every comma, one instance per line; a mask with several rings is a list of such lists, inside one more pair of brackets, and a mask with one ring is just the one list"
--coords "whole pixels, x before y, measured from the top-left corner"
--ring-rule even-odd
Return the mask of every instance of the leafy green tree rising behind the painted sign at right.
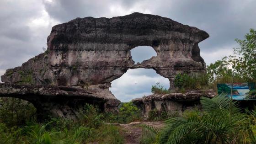
[[240, 48], [233, 55], [207, 66], [211, 83], [253, 82], [256, 80], [256, 31], [250, 29], [244, 40], [235, 39]]

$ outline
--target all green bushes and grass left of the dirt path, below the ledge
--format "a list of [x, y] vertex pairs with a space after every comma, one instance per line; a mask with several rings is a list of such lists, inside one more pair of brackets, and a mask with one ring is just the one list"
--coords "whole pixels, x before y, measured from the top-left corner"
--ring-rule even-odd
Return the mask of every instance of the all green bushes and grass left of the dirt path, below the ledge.
[[123, 144], [120, 128], [104, 124], [103, 114], [92, 105], [85, 104], [77, 121], [52, 118], [38, 123], [32, 104], [15, 98], [1, 100], [0, 144]]

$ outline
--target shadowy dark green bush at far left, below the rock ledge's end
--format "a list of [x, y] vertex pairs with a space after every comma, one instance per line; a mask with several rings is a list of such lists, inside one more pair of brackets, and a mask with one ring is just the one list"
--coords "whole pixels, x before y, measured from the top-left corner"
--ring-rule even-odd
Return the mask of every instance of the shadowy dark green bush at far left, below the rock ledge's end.
[[19, 98], [0, 97], [0, 122], [8, 126], [22, 125], [36, 119], [34, 105]]

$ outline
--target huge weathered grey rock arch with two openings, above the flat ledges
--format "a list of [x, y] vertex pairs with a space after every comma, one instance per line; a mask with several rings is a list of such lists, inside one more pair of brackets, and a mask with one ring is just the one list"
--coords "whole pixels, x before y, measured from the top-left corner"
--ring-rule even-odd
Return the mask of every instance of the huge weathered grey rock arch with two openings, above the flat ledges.
[[[1, 79], [9, 84], [85, 88], [109, 98], [108, 109], [120, 102], [112, 101], [115, 97], [108, 88], [128, 69], [155, 69], [170, 80], [171, 88], [177, 73], [205, 72], [198, 43], [207, 37], [196, 27], [142, 13], [76, 18], [54, 26], [47, 51], [7, 69]], [[157, 56], [134, 64], [130, 50], [137, 46], [151, 46]]]

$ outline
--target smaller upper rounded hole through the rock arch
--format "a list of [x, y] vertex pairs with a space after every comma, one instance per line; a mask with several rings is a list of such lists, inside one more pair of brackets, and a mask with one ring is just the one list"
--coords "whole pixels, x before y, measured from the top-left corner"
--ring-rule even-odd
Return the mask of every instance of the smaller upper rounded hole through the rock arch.
[[150, 59], [152, 56], [157, 56], [155, 49], [149, 46], [139, 46], [131, 50], [131, 55], [135, 64], [141, 63], [144, 60]]

